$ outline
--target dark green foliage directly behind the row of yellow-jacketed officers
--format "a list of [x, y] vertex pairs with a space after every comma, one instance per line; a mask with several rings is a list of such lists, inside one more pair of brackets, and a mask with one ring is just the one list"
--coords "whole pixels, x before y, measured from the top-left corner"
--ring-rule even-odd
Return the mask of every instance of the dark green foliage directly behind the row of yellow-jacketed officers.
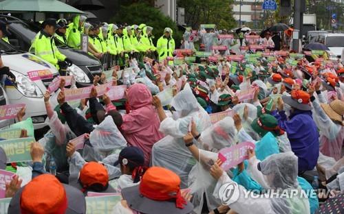
[[153, 27], [153, 43], [162, 36], [165, 27], [170, 27], [173, 30], [173, 38], [175, 39], [176, 48], [180, 45], [182, 40], [182, 32], [178, 32], [177, 24], [168, 16], [164, 16], [160, 10], [151, 7], [149, 3], [139, 1], [128, 5], [122, 5], [120, 10], [111, 19], [113, 23], [127, 23], [128, 25], [140, 25], [141, 23]]

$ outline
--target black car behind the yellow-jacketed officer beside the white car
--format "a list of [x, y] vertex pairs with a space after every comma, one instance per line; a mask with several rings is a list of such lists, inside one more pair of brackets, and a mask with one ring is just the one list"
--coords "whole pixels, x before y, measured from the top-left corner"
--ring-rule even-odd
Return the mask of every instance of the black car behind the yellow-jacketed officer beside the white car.
[[[8, 29], [11, 35], [8, 37], [10, 44], [23, 51], [29, 51], [31, 41], [39, 32], [39, 25], [22, 21], [20, 19], [6, 16], [8, 19]], [[72, 74], [76, 77], [76, 86], [89, 86], [93, 82], [94, 75], [100, 75], [103, 71], [103, 66], [100, 61], [94, 56], [81, 51], [80, 49], [73, 49], [55, 39], [55, 44], [58, 50], [61, 51], [67, 58], [72, 60], [75, 65], [72, 67]], [[83, 71], [83, 73], [81, 73]], [[71, 74], [71, 75], [72, 75]]]

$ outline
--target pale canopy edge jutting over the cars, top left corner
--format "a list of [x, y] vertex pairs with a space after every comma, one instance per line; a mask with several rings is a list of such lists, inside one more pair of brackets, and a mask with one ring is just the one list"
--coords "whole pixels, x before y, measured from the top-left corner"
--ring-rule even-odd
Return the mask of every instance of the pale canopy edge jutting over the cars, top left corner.
[[58, 0], [5, 0], [0, 1], [1, 12], [53, 12], [83, 14]]

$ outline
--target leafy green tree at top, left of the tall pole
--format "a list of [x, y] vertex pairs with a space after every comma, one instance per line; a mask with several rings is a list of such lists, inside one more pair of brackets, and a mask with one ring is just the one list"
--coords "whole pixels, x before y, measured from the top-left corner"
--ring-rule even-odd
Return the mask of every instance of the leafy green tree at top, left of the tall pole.
[[185, 23], [193, 29], [200, 24], [216, 24], [217, 29], [233, 29], [233, 0], [178, 0], [178, 7], [185, 9]]

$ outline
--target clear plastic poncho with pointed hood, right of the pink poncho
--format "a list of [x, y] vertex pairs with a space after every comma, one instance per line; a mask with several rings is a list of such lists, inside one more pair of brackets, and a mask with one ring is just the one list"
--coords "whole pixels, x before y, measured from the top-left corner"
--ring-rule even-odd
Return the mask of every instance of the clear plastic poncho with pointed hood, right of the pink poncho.
[[153, 145], [151, 164], [174, 171], [182, 180], [181, 187], [187, 187], [188, 175], [195, 165], [195, 159], [186, 148], [183, 137], [189, 124], [194, 121], [198, 132], [211, 126], [209, 115], [197, 104], [189, 84], [171, 102], [177, 110], [173, 118], [168, 117], [160, 123], [160, 132], [165, 137]]

